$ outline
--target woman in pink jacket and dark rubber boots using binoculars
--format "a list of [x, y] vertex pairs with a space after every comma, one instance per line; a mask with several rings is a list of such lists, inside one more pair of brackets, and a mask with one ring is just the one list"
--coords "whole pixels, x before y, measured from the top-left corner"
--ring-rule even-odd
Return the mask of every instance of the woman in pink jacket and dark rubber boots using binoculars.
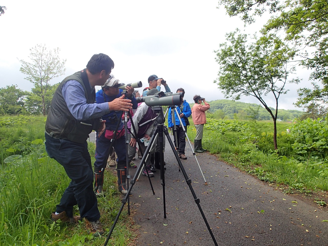
[[[205, 101], [205, 98], [200, 95], [194, 95], [195, 105], [191, 109], [191, 116], [193, 118], [195, 128], [196, 128], [196, 137], [195, 137], [195, 152], [202, 153], [207, 151], [202, 147], [202, 138], [203, 138], [203, 129], [204, 124], [206, 123], [205, 111], [209, 110], [210, 105]], [[202, 101], [204, 105], [202, 104]]]

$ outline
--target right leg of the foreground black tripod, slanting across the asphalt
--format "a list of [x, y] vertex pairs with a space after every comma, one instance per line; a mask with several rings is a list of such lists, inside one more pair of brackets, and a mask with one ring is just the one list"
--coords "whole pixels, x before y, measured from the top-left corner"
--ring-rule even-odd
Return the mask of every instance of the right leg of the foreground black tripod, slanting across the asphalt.
[[[180, 168], [181, 168], [182, 174], [183, 174], [184, 178], [186, 179], [186, 182], [187, 182], [187, 184], [188, 184], [188, 186], [189, 186], [189, 189], [190, 189], [191, 193], [193, 194], [193, 197], [194, 197], [194, 199], [195, 199], [195, 203], [197, 204], [198, 209], [199, 209], [199, 211], [200, 211], [200, 214], [202, 215], [202, 217], [203, 217], [203, 219], [204, 219], [204, 222], [205, 222], [205, 224], [206, 224], [206, 227], [207, 227], [208, 231], [210, 232], [210, 235], [211, 235], [211, 237], [212, 237], [212, 240], [213, 240], [215, 246], [218, 246], [218, 245], [217, 245], [217, 242], [216, 242], [216, 240], [215, 240], [215, 237], [214, 237], [214, 235], [213, 235], [213, 232], [212, 232], [212, 230], [211, 230], [211, 227], [210, 227], [210, 225], [209, 225], [208, 222], [207, 222], [207, 219], [206, 219], [206, 217], [205, 217], [205, 215], [204, 215], [204, 212], [203, 212], [202, 208], [200, 207], [200, 204], [199, 204], [200, 200], [199, 200], [199, 198], [197, 198], [197, 196], [196, 196], [196, 194], [195, 194], [195, 191], [194, 191], [194, 189], [193, 189], [193, 187], [192, 187], [192, 185], [191, 185], [191, 180], [188, 178], [188, 175], [187, 175], [187, 173], [186, 173], [186, 171], [185, 171], [185, 169], [184, 169], [184, 167], [183, 167], [183, 165], [182, 165], [182, 163], [181, 163], [181, 160], [180, 160], [180, 158], [179, 158], [179, 155], [178, 155], [178, 154], [176, 153], [176, 151], [174, 150], [174, 144], [172, 143], [172, 140], [171, 140], [170, 135], [169, 135], [169, 131], [168, 131], [168, 129], [167, 129], [166, 127], [165, 127], [165, 130], [164, 130], [164, 133], [165, 133], [165, 135], [166, 135], [166, 137], [167, 137], [167, 140], [169, 141], [169, 143], [170, 143], [170, 145], [171, 145], [172, 151], [173, 151], [173, 153], [174, 153], [174, 155], [175, 155], [176, 160], [177, 160], [178, 163], [179, 163], [179, 166], [180, 166]], [[165, 200], [164, 200], [164, 202], [165, 202]], [[164, 217], [165, 217], [165, 216], [164, 216]]]

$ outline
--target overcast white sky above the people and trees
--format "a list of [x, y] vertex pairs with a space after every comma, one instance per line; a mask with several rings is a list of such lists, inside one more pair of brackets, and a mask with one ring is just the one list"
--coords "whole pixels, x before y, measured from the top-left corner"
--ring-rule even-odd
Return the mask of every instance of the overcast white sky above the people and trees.
[[[225, 33], [237, 27], [245, 30], [238, 17], [226, 15], [217, 0], [98, 0], [98, 1], [17, 1], [2, 0], [5, 14], [0, 16], [0, 87], [17, 84], [30, 91], [33, 85], [19, 71], [19, 59], [28, 61], [30, 48], [45, 44], [60, 48], [67, 59], [65, 76], [85, 68], [95, 53], [108, 54], [114, 61], [112, 73], [122, 83], [142, 81], [152, 74], [163, 77], [175, 92], [182, 87], [192, 103], [200, 94], [207, 101], [225, 99], [213, 81], [218, 64], [214, 50], [225, 42]], [[247, 27], [258, 31], [265, 18]], [[307, 86], [309, 71], [298, 69], [301, 85], [279, 99], [279, 109], [298, 109], [293, 105], [297, 88]], [[162, 89], [164, 90], [163, 86]], [[254, 97], [240, 101], [259, 104]], [[275, 102], [268, 99], [275, 107]]]

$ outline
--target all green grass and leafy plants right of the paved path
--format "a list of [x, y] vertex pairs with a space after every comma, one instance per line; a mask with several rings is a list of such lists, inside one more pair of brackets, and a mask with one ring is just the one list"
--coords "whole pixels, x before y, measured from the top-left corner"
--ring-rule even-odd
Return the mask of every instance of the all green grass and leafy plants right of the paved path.
[[[275, 183], [286, 193], [311, 196], [328, 191], [327, 118], [277, 122], [278, 150], [274, 149], [270, 121], [207, 119], [204, 129], [204, 148], [220, 160]], [[191, 125], [189, 138], [195, 134]], [[316, 202], [327, 206], [327, 201]]]

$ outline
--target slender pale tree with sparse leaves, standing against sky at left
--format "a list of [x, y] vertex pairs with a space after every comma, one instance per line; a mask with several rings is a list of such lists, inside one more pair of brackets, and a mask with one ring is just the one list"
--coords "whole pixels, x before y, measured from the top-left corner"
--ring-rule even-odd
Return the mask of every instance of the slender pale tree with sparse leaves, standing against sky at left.
[[42, 113], [46, 115], [45, 95], [48, 83], [51, 79], [65, 73], [66, 59], [59, 58], [59, 48], [48, 50], [45, 45], [38, 44], [30, 51], [31, 62], [20, 60], [22, 67], [19, 70], [27, 75], [25, 79], [33, 83], [36, 90], [40, 90]]

